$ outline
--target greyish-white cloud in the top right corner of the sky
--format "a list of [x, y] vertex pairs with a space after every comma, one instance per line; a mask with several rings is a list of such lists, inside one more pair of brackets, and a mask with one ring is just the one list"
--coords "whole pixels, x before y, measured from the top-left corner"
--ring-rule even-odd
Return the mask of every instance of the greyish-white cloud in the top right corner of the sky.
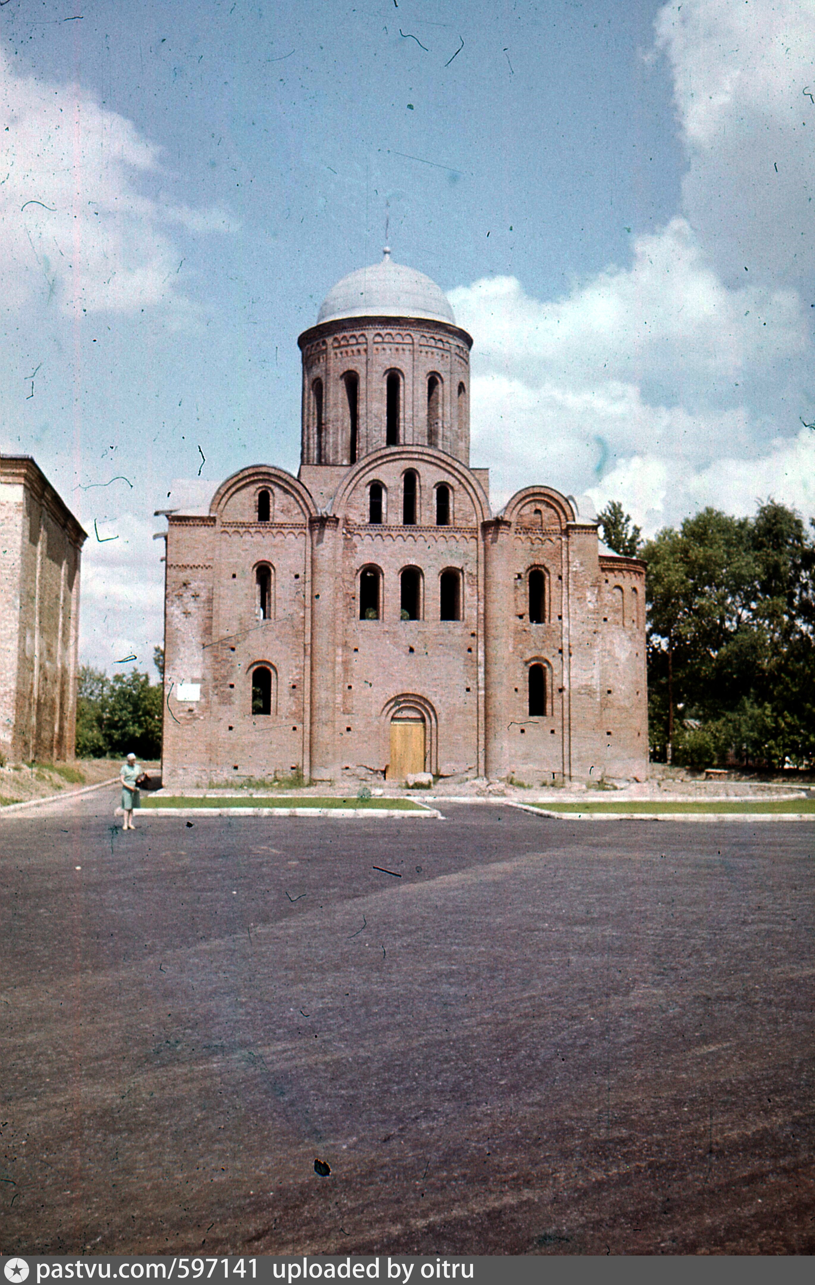
[[684, 212], [706, 251], [730, 281], [811, 281], [814, 0], [684, 0], [656, 30], [689, 159]]

